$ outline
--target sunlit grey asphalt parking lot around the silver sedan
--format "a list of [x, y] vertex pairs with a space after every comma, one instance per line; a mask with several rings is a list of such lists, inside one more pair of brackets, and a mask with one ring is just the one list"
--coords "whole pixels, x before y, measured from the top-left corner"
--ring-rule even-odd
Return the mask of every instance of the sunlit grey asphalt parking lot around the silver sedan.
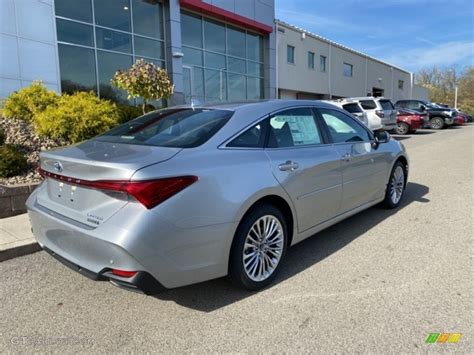
[[[474, 352], [474, 125], [400, 137], [402, 206], [362, 212], [290, 249], [276, 284], [226, 279], [150, 297], [45, 252], [0, 263], [0, 352]], [[429, 333], [458, 344], [425, 344]]]

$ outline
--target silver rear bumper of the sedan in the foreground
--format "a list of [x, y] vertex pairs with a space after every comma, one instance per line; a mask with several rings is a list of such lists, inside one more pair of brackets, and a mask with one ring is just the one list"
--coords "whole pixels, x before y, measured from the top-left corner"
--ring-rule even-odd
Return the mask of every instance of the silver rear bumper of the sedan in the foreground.
[[[144, 226], [123, 208], [92, 228], [40, 206], [35, 192], [27, 208], [33, 234], [48, 253], [84, 276], [144, 292], [149, 288], [143, 286], [144, 279], [161, 289], [225, 276], [237, 225], [178, 228], [156, 216]], [[137, 271], [138, 276], [117, 277], [112, 269]]]

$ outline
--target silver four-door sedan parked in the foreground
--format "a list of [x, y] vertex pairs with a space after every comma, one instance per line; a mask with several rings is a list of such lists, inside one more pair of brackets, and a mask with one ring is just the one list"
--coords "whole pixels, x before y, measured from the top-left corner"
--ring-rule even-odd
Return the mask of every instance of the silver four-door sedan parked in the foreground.
[[155, 111], [42, 153], [33, 233], [74, 270], [145, 293], [225, 275], [259, 289], [287, 247], [400, 204], [408, 157], [377, 134], [315, 101]]

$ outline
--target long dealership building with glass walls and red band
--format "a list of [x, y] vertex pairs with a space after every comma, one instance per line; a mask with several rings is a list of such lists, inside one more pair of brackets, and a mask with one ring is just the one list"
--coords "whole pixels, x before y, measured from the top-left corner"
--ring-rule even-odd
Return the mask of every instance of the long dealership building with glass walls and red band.
[[0, 98], [41, 80], [59, 92], [92, 90], [125, 102], [111, 79], [140, 58], [168, 71], [171, 105], [426, 95], [403, 69], [275, 21], [274, 0], [1, 4]]

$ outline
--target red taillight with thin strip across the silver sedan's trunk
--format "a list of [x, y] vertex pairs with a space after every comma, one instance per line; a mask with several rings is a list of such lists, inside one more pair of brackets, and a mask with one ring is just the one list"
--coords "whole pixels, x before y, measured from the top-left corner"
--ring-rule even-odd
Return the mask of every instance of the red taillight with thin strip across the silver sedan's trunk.
[[50, 173], [41, 168], [39, 168], [38, 171], [44, 177], [64, 181], [68, 184], [85, 186], [98, 190], [125, 192], [130, 196], [133, 196], [148, 209], [151, 209], [169, 199], [171, 196], [176, 195], [198, 179], [197, 176], [178, 176], [145, 181], [88, 181]]

